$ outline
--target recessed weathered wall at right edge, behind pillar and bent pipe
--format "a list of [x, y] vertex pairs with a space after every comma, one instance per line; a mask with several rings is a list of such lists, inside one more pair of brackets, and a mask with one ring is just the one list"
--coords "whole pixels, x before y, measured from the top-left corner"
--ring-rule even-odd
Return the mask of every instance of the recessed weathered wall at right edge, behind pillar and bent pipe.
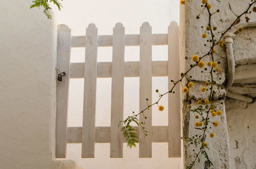
[[[255, 15], [254, 15], [255, 18]], [[236, 68], [252, 66], [256, 62], [256, 27], [244, 29], [234, 38], [234, 57]], [[247, 68], [248, 68], [247, 67]], [[252, 72], [255, 75], [255, 71]], [[243, 80], [246, 83], [245, 80]], [[255, 83], [234, 84], [232, 92], [255, 97]], [[243, 87], [243, 88], [240, 88]], [[256, 168], [256, 103], [245, 103], [235, 99], [226, 99], [227, 125], [230, 140], [230, 168]]]

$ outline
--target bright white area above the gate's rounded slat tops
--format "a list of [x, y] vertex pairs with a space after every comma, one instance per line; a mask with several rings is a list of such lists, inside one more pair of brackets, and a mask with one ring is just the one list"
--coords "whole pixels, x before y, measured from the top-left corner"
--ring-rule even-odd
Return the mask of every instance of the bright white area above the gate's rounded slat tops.
[[58, 24], [72, 28], [72, 34], [85, 34], [85, 27], [96, 24], [99, 34], [111, 34], [122, 22], [127, 34], [140, 32], [149, 22], [153, 33], [167, 31], [171, 21], [179, 23], [179, 0], [64, 0], [61, 11], [54, 10]]

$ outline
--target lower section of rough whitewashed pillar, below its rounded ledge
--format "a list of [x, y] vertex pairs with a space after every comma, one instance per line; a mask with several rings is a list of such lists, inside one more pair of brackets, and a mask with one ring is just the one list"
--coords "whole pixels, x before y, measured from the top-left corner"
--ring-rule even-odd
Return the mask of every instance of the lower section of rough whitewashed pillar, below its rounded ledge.
[[[221, 104], [222, 103], [222, 104]], [[216, 105], [216, 110], [221, 110], [223, 114], [221, 116], [216, 115], [215, 117], [211, 117], [210, 121], [218, 121], [219, 126], [214, 127], [213, 125], [209, 125], [212, 133], [214, 133], [214, 138], [210, 138], [207, 135], [207, 138], [205, 142], [209, 144], [209, 151], [207, 153], [209, 154], [209, 158], [211, 159], [214, 166], [212, 168], [229, 168], [228, 160], [230, 158], [229, 154], [229, 143], [227, 142], [228, 133], [227, 133], [227, 121], [226, 121], [226, 114], [225, 114], [225, 104], [223, 104], [223, 100], [216, 101], [214, 103]], [[197, 108], [199, 105], [196, 103], [196, 101], [192, 101], [190, 105], [186, 106], [186, 109], [184, 110], [184, 120], [187, 123], [184, 126], [184, 136], [191, 137], [196, 135], [196, 133], [200, 133], [200, 131], [195, 129], [195, 113], [191, 112], [191, 109]], [[200, 147], [200, 146], [199, 146]], [[193, 161], [193, 149], [195, 149], [195, 152], [199, 151], [199, 147], [195, 147], [195, 145], [186, 145], [185, 144], [185, 157], [186, 163], [189, 164], [191, 161]], [[192, 158], [189, 158], [189, 156], [192, 156]], [[195, 163], [194, 168], [208, 168], [207, 164], [205, 164], [204, 157], [200, 157], [200, 163]]]

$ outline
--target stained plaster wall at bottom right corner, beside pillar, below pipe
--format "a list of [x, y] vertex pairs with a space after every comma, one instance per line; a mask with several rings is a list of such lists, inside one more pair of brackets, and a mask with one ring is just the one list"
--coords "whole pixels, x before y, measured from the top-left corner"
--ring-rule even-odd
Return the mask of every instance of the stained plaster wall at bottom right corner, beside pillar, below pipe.
[[231, 168], [256, 168], [256, 103], [225, 100], [228, 135], [230, 138]]

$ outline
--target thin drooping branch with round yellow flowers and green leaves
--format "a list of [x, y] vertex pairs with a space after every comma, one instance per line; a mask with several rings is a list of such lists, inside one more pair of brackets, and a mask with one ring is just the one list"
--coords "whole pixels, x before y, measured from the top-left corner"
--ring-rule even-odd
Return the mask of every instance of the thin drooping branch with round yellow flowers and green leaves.
[[[220, 3], [220, 0], [212, 0], [212, 1], [218, 1]], [[186, 3], [186, 0], [180, 0], [180, 4], [185, 4], [185, 3]], [[185, 71], [184, 73], [180, 73], [179, 80], [177, 81], [171, 80], [171, 82], [173, 83], [173, 86], [171, 89], [169, 89], [169, 91], [161, 94], [159, 93], [159, 90], [156, 89], [157, 94], [159, 94], [159, 99], [157, 99], [156, 102], [152, 104], [148, 104], [147, 107], [145, 107], [143, 110], [141, 110], [137, 114], [135, 112], [132, 112], [131, 116], [127, 117], [127, 119], [120, 122], [124, 124], [124, 127], [122, 127], [121, 130], [124, 133], [125, 139], [127, 140], [128, 147], [132, 147], [132, 146], [135, 147], [136, 146], [135, 143], [138, 143], [138, 136], [136, 135], [136, 133], [133, 132], [134, 128], [132, 128], [131, 122], [135, 122], [138, 126], [140, 126], [145, 136], [147, 136], [148, 131], [146, 128], [143, 127], [143, 124], [145, 124], [145, 122], [139, 121], [138, 116], [139, 115], [144, 116], [144, 114], [147, 113], [148, 108], [154, 105], [157, 105], [159, 107], [159, 110], [163, 111], [164, 107], [163, 105], [160, 105], [160, 106], [158, 105], [159, 101], [163, 98], [163, 96], [166, 96], [167, 94], [172, 94], [174, 87], [180, 82], [182, 82], [182, 80], [188, 80], [189, 78], [186, 78], [186, 77], [188, 77], [189, 71], [197, 67], [199, 69], [202, 69], [203, 73], [209, 73], [209, 80], [205, 82], [204, 84], [205, 86], [201, 88], [201, 91], [202, 92], [210, 91], [210, 92], [207, 99], [204, 99], [204, 100], [199, 99], [197, 101], [199, 106], [191, 110], [191, 112], [196, 114], [195, 129], [196, 131], [198, 131], [198, 133], [196, 133], [192, 137], [184, 138], [184, 139], [186, 140], [188, 145], [194, 144], [196, 147], [200, 147], [200, 149], [198, 149], [198, 152], [195, 152], [195, 150], [193, 150], [194, 154], [193, 156], [190, 157], [190, 158], [193, 158], [193, 160], [188, 166], [186, 166], [186, 169], [193, 168], [193, 166], [195, 166], [196, 161], [198, 161], [199, 163], [200, 157], [201, 157], [200, 155], [202, 155], [205, 158], [208, 166], [213, 165], [211, 159], [209, 159], [209, 156], [207, 154], [207, 152], [211, 150], [209, 150], [208, 143], [206, 142], [206, 140], [208, 136], [209, 138], [214, 138], [214, 133], [211, 132], [211, 128], [212, 127], [215, 128], [219, 126], [219, 122], [212, 121], [211, 117], [215, 117], [216, 115], [221, 116], [222, 114], [221, 110], [218, 110], [216, 105], [214, 105], [214, 95], [216, 94], [216, 91], [214, 91], [214, 85], [216, 84], [216, 81], [214, 80], [214, 73], [220, 71], [220, 68], [218, 67], [218, 64], [220, 64], [220, 62], [216, 61], [214, 58], [214, 55], [217, 52], [216, 46], [218, 45], [221, 48], [225, 47], [223, 42], [223, 37], [233, 27], [237, 29], [238, 33], [243, 32], [243, 27], [236, 27], [236, 25], [239, 24], [239, 22], [241, 22], [241, 20], [243, 19], [242, 17], [244, 17], [244, 20], [246, 20], [246, 22], [249, 22], [250, 18], [248, 17], [248, 15], [250, 15], [252, 11], [256, 12], [255, 4], [256, 4], [256, 0], [250, 0], [250, 2], [248, 2], [248, 6], [240, 15], [237, 15], [236, 13], [234, 13], [234, 11], [232, 11], [231, 5], [229, 4], [229, 8], [232, 11], [232, 13], [236, 15], [236, 19], [234, 19], [232, 24], [230, 24], [226, 29], [224, 29], [221, 32], [218, 32], [217, 31], [218, 27], [212, 26], [212, 16], [219, 13], [220, 10], [211, 11], [212, 6], [209, 0], [208, 1], [202, 0], [202, 11], [200, 11], [200, 13], [196, 16], [196, 19], [200, 19], [200, 15], [207, 15], [208, 17], [207, 24], [205, 26], [202, 26], [202, 28], [205, 29], [205, 33], [202, 34], [202, 39], [206, 40], [209, 43], [210, 45], [209, 51], [202, 55], [200, 54], [193, 55], [191, 59], [194, 63], [190, 65], [190, 68], [187, 71]], [[209, 40], [207, 40], [207, 36], [209, 36]], [[204, 59], [206, 57], [209, 57], [209, 62], [207, 62], [205, 66]], [[184, 94], [188, 94], [189, 89], [191, 89], [193, 85], [194, 85], [193, 82], [186, 82], [186, 86], [183, 87], [182, 92]]]

